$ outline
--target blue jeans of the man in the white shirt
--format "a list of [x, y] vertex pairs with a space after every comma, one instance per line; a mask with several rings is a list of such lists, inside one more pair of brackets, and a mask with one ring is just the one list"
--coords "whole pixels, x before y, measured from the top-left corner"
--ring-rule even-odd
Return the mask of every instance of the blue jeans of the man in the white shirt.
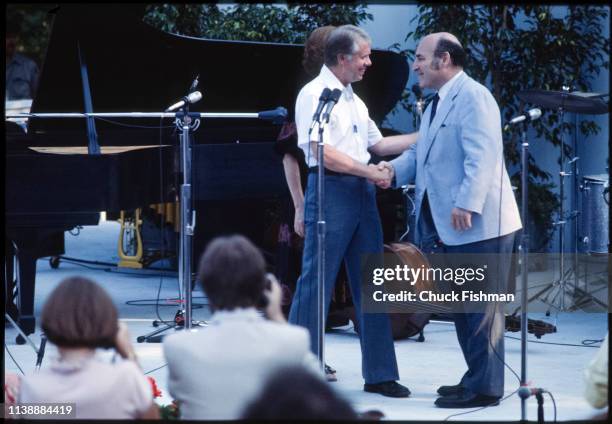
[[[316, 174], [308, 176], [302, 274], [289, 312], [290, 323], [306, 327], [310, 332], [313, 352], [318, 350], [316, 177]], [[344, 260], [359, 320], [361, 368], [366, 383], [399, 379], [388, 315], [361, 312], [361, 255], [383, 251], [375, 194], [374, 185], [364, 178], [325, 176], [325, 317]]]

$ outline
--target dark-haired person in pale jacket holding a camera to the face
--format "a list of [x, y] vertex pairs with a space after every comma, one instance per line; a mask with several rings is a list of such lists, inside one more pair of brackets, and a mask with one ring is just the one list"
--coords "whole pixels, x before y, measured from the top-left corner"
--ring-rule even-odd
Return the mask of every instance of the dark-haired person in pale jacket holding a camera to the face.
[[286, 323], [280, 286], [250, 241], [213, 240], [198, 280], [213, 311], [208, 327], [170, 335], [163, 345], [182, 419], [237, 419], [277, 367], [318, 370], [308, 333]]

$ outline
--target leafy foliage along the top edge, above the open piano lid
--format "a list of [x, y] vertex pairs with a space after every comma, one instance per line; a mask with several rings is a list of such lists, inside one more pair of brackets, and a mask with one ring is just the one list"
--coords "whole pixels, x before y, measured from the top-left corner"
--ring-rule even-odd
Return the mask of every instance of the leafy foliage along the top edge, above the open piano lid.
[[152, 4], [144, 20], [161, 30], [221, 40], [303, 43], [323, 25], [354, 24], [372, 19], [363, 4]]

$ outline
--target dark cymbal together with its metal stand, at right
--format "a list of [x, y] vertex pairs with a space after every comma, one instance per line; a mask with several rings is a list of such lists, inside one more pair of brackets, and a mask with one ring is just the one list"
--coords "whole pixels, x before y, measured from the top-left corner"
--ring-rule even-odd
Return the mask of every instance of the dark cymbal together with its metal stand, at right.
[[[560, 123], [563, 125], [565, 112], [574, 113], [589, 113], [589, 114], [603, 114], [608, 112], [608, 105], [601, 99], [605, 97], [605, 94], [597, 93], [581, 93], [573, 92], [570, 93], [568, 86], [563, 86], [563, 91], [546, 91], [546, 90], [523, 90], [519, 92], [518, 97], [527, 103], [532, 103], [543, 108], [555, 109], [560, 115]], [[576, 142], [576, 128], [574, 127], [574, 144]], [[576, 151], [576, 146], [574, 146]], [[567, 165], [573, 167], [573, 170], [566, 171], [565, 161], [565, 142], [563, 140], [563, 133], [561, 134], [560, 143], [560, 158], [559, 158], [559, 211], [558, 219], [553, 223], [559, 230], [559, 278], [549, 285], [544, 287], [538, 293], [529, 298], [528, 302], [535, 299], [540, 299], [542, 302], [549, 305], [550, 308], [554, 308], [558, 311], [567, 311], [575, 309], [577, 304], [566, 305], [565, 297], [568, 293], [576, 294], [578, 292], [578, 217], [580, 212], [578, 211], [576, 195], [573, 196], [572, 208], [573, 210], [566, 214], [565, 212], [565, 178], [573, 177], [573, 192], [577, 192], [577, 176], [578, 168], [577, 162], [579, 158], [573, 157], [567, 162]], [[566, 269], [565, 266], [565, 225], [569, 221], [574, 222], [574, 249], [573, 265]], [[574, 287], [570, 290], [568, 287], [568, 280], [573, 275]], [[544, 297], [542, 297], [544, 296]], [[550, 315], [550, 308], [546, 312]]]

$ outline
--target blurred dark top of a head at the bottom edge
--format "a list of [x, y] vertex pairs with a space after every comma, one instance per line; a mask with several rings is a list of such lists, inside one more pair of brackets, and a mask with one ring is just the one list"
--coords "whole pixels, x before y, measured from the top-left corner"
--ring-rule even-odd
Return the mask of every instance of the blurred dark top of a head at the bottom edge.
[[345, 420], [358, 418], [351, 405], [322, 379], [301, 367], [283, 368], [245, 409], [247, 420]]

